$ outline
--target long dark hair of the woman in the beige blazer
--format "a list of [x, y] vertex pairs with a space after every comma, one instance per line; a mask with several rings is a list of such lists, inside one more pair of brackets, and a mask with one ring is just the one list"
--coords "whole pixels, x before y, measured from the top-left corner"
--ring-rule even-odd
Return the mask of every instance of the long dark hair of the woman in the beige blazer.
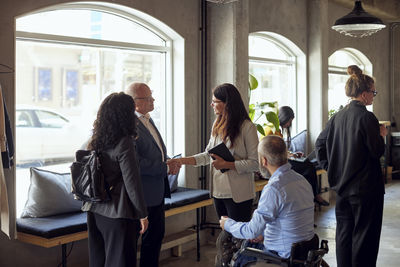
[[230, 83], [224, 83], [213, 90], [214, 97], [225, 103], [225, 112], [218, 115], [212, 129], [213, 136], [221, 136], [225, 142], [229, 138], [231, 145], [240, 133], [245, 120], [250, 120], [238, 89]]

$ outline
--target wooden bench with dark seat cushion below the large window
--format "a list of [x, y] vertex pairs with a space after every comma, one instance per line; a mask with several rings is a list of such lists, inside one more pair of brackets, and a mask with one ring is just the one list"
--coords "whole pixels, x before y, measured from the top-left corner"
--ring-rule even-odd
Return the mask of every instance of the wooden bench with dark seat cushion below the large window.
[[[171, 199], [165, 199], [165, 217], [196, 210], [195, 232], [186, 230], [182, 233], [165, 237], [162, 249], [175, 249], [181, 254], [181, 244], [197, 240], [197, 260], [200, 260], [200, 208], [213, 204], [209, 191], [200, 189], [178, 188]], [[44, 218], [17, 219], [17, 239], [45, 248], [61, 245], [62, 266], [67, 266], [67, 244], [88, 238], [86, 213], [75, 212]]]

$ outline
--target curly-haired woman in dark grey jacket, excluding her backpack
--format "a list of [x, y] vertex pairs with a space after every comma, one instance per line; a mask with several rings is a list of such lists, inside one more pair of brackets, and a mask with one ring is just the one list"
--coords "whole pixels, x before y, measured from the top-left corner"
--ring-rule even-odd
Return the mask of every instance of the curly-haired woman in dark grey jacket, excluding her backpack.
[[111, 200], [86, 202], [89, 265], [136, 266], [139, 233], [146, 231], [147, 210], [133, 139], [136, 138], [135, 103], [129, 95], [112, 93], [102, 102], [93, 124], [88, 149], [100, 153]]

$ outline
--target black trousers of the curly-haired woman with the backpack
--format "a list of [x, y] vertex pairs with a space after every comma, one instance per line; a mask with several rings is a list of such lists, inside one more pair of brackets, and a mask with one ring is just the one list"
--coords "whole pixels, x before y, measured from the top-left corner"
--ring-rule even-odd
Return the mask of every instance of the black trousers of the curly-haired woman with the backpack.
[[139, 220], [115, 219], [88, 212], [89, 266], [136, 266]]

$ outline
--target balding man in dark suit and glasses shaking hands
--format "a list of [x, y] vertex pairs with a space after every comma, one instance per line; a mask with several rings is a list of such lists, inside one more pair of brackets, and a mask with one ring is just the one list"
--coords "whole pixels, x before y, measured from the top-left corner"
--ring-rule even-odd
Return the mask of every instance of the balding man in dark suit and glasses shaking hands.
[[139, 118], [136, 151], [147, 204], [149, 227], [142, 235], [140, 266], [158, 266], [161, 243], [165, 233], [164, 198], [170, 197], [167, 174], [176, 174], [177, 163], [167, 162], [162, 137], [149, 112], [154, 110], [154, 98], [144, 83], [131, 84], [126, 93], [133, 97]]

